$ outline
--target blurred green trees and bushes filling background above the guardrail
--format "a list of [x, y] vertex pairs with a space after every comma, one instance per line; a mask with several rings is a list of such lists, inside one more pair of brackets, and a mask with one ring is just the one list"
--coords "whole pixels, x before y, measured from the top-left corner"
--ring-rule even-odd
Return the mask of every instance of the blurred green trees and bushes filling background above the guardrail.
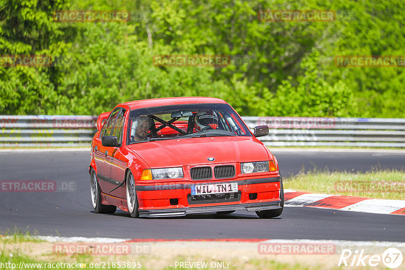
[[[127, 10], [128, 22], [55, 22], [60, 10]], [[259, 10], [326, 10], [332, 22], [264, 22]], [[0, 0], [0, 114], [84, 114], [131, 100], [210, 96], [241, 115], [405, 118], [401, 67], [335, 56], [405, 56], [405, 2]], [[229, 55], [226, 67], [158, 67], [155, 55]]]

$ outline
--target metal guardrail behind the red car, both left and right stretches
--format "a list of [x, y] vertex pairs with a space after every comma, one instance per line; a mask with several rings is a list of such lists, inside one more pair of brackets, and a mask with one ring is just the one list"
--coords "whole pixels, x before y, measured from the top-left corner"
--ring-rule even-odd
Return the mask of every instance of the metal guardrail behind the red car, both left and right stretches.
[[[267, 146], [405, 147], [405, 119], [242, 117], [250, 128], [268, 125]], [[89, 147], [97, 116], [0, 116], [0, 148]]]

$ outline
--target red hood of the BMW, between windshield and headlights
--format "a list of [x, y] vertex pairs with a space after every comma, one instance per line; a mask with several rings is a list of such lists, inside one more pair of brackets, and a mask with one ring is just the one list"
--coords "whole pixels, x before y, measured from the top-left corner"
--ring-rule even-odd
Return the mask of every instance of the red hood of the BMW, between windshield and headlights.
[[[151, 168], [269, 160], [254, 137], [184, 138], [130, 145]], [[215, 161], [208, 161], [209, 157]]]

